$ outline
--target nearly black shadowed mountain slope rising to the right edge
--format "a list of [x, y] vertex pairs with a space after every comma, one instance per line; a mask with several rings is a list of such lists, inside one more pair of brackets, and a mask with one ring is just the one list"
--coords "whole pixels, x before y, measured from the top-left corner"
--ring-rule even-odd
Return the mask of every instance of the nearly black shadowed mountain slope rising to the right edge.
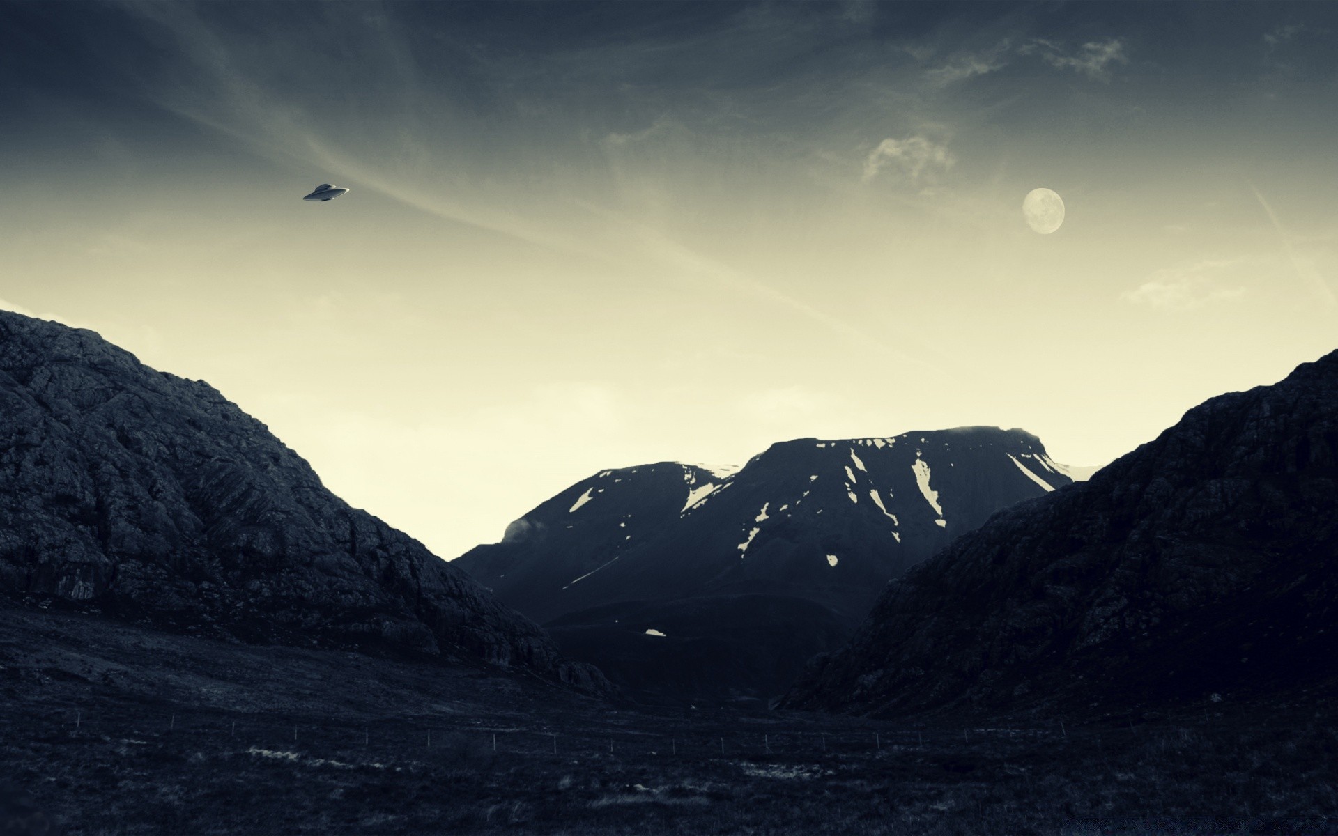
[[1214, 397], [894, 583], [788, 708], [1121, 708], [1338, 678], [1338, 352]]

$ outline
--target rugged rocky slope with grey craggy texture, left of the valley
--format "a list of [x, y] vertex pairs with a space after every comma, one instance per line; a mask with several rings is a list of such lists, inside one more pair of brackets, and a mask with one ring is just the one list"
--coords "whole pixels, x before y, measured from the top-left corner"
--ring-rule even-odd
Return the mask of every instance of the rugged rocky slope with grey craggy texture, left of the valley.
[[587, 690], [527, 618], [203, 381], [0, 312], [0, 593], [202, 635], [516, 666]]

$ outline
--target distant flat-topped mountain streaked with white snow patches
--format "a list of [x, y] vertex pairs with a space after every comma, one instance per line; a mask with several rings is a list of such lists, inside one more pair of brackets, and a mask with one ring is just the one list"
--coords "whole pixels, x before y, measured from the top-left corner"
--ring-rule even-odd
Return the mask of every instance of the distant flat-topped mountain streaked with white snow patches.
[[1021, 429], [800, 439], [737, 472], [601, 471], [454, 564], [615, 682], [760, 698], [848, 638], [888, 579], [1070, 482]]

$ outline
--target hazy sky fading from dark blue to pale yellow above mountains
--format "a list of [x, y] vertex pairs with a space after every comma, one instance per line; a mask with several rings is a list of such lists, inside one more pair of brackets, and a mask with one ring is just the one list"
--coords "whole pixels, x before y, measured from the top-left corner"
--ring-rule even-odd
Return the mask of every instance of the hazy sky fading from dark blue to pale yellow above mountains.
[[447, 559], [599, 469], [793, 437], [1104, 464], [1338, 348], [1335, 33], [1319, 3], [4, 3], [0, 306], [207, 380]]

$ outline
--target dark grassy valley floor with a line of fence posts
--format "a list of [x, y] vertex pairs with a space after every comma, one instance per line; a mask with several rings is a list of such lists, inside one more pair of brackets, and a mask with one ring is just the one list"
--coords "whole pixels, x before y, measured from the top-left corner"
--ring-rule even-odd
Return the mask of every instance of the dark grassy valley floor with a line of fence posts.
[[1317, 693], [1085, 720], [641, 710], [9, 605], [0, 666], [5, 833], [1338, 832]]

